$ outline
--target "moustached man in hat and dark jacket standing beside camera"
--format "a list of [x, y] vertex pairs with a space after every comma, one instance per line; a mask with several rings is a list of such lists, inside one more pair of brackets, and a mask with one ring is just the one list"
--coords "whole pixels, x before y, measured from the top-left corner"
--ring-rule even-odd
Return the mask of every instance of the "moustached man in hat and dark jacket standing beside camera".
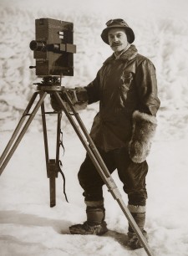
[[[109, 172], [117, 169], [129, 198], [128, 208], [146, 237], [148, 165], [145, 159], [150, 152], [156, 128], [155, 115], [160, 107], [155, 67], [149, 59], [138, 54], [132, 44], [135, 34], [123, 19], [109, 20], [106, 25], [101, 38], [114, 54], [105, 60], [93, 82], [76, 90], [77, 97], [88, 104], [99, 101], [99, 113], [94, 118], [90, 136]], [[87, 221], [70, 227], [70, 233], [106, 233], [104, 182], [88, 155], [80, 166], [79, 183], [84, 189]], [[128, 237], [131, 248], [142, 247], [130, 225]]]

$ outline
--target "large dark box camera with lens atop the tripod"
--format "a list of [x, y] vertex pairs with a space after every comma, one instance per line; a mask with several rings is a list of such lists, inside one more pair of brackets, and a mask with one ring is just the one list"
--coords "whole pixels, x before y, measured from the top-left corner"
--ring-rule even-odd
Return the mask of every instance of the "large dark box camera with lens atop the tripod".
[[52, 18], [35, 20], [35, 40], [30, 49], [36, 59], [36, 75], [74, 75], [74, 24]]

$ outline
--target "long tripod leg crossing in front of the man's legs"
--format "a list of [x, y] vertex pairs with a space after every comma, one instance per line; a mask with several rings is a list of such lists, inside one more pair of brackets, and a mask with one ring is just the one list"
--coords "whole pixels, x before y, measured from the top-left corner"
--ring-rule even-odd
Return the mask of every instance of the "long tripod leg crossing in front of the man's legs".
[[121, 197], [118, 187], [116, 186], [107, 167], [105, 166], [103, 159], [99, 155], [99, 151], [97, 150], [96, 146], [94, 145], [94, 142], [92, 141], [91, 137], [89, 136], [89, 133], [88, 133], [87, 129], [85, 128], [84, 123], [80, 119], [79, 114], [74, 110], [74, 106], [73, 106], [71, 100], [69, 99], [69, 95], [65, 92], [66, 101], [68, 102], [70, 109], [73, 111], [74, 116], [75, 116], [76, 120], [78, 121], [81, 130], [84, 133], [84, 136], [86, 137], [87, 141], [89, 141], [89, 145], [88, 145], [87, 141], [85, 141], [82, 133], [79, 131], [79, 128], [76, 125], [73, 117], [71, 115], [69, 115], [69, 111], [66, 109], [66, 105], [64, 105], [64, 101], [61, 99], [60, 95], [58, 95], [57, 92], [55, 92], [54, 94], [56, 96], [56, 99], [58, 100], [58, 104], [62, 106], [64, 113], [67, 115], [71, 125], [73, 125], [73, 127], [74, 127], [74, 131], [79, 136], [79, 139], [82, 142], [83, 146], [85, 147], [86, 151], [88, 152], [91, 161], [93, 161], [94, 166], [98, 170], [100, 177], [103, 179], [104, 183], [109, 188], [109, 192], [112, 194], [114, 199], [119, 203], [119, 207], [124, 212], [125, 217], [127, 218], [131, 227], [134, 229], [135, 233], [137, 234], [138, 238], [140, 239], [140, 242], [142, 243], [143, 247], [145, 248], [145, 252], [149, 256], [152, 256], [151, 249], [150, 249], [148, 243], [146, 242], [143, 233], [141, 233], [140, 228], [138, 227], [137, 223], [135, 223], [135, 219], [132, 217], [128, 207], [126, 207], [126, 205], [124, 204], [124, 201]]

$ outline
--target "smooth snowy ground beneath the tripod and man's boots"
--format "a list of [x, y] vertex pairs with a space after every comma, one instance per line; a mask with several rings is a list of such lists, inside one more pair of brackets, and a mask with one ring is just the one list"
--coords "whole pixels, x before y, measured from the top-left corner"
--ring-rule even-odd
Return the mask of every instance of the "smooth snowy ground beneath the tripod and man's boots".
[[[10, 133], [3, 133], [3, 145], [9, 136]], [[49, 141], [52, 144], [53, 135]], [[155, 255], [187, 255], [187, 145], [187, 140], [155, 141], [148, 159], [146, 229]], [[53, 208], [49, 207], [42, 133], [30, 131], [24, 136], [8, 163], [1, 177], [1, 255], [144, 256], [144, 249], [132, 252], [125, 247], [127, 221], [105, 187], [106, 221], [110, 232], [103, 237], [69, 234], [69, 225], [83, 222], [85, 218], [77, 180], [84, 149], [74, 133], [64, 135], [64, 146], [62, 159], [69, 203], [64, 199], [63, 180], [58, 177], [57, 205]], [[126, 202], [117, 174], [113, 177]]]

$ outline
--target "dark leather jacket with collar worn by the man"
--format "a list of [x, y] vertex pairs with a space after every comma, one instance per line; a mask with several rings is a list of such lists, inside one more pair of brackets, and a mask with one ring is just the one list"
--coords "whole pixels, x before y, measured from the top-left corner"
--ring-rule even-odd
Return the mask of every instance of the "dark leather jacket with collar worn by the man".
[[99, 101], [90, 136], [104, 151], [128, 146], [132, 135], [135, 110], [156, 115], [160, 107], [157, 97], [155, 66], [138, 54], [135, 45], [119, 59], [114, 54], [86, 88], [89, 104]]

